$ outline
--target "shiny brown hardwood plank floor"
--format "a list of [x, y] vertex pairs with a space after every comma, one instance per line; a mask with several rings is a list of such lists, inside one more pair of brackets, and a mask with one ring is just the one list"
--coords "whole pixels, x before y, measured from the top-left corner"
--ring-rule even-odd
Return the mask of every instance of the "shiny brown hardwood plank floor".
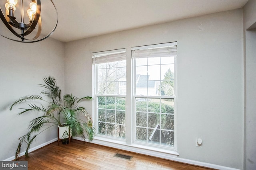
[[[133, 158], [116, 158], [116, 153]], [[68, 145], [51, 143], [29, 156], [21, 156], [19, 160], [28, 160], [30, 170], [212, 170], [74, 139]]]

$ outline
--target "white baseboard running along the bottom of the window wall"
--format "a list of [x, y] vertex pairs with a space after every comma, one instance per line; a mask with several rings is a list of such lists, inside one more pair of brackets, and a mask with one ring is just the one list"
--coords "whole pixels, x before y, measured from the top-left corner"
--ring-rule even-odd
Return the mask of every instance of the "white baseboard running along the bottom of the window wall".
[[[82, 141], [82, 139], [80, 137], [73, 137], [73, 139], [77, 139]], [[190, 159], [184, 159], [184, 158], [179, 158], [178, 154], [168, 154], [168, 153], [164, 153], [164, 152], [157, 152], [157, 151], [152, 151], [152, 150], [147, 150], [147, 149], [141, 149], [138, 147], [131, 147], [128, 145], [124, 145], [124, 144], [118, 144], [118, 143], [110, 143], [107, 141], [101, 141], [98, 139], [94, 139], [93, 141], [91, 141], [90, 143], [95, 143], [98, 145], [103, 145], [103, 146], [107, 146], [107, 147], [112, 147], [112, 148], [116, 148], [116, 149], [121, 149], [121, 150], [127, 150], [130, 152], [136, 152], [136, 153], [140, 153], [140, 154], [146, 154], [149, 156], [155, 156], [158, 158], [164, 158], [164, 159], [168, 159], [168, 160], [174, 160], [177, 162], [182, 162], [182, 163], [186, 163], [186, 164], [193, 164], [193, 165], [197, 165], [197, 166], [204, 166], [207, 168], [214, 168], [214, 169], [218, 169], [218, 170], [239, 170], [236, 168], [230, 168], [230, 167], [226, 167], [226, 166], [220, 166], [220, 165], [216, 165], [216, 164], [210, 164], [210, 163], [206, 163], [206, 162], [200, 162], [200, 161], [196, 161], [196, 160], [190, 160]]]

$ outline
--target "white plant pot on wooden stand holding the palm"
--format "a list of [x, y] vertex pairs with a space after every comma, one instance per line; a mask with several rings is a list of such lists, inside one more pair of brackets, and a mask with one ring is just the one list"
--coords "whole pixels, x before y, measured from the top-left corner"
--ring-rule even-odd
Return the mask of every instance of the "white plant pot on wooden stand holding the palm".
[[65, 126], [65, 123], [62, 124], [63, 126], [58, 126], [58, 145], [59, 141], [62, 141], [63, 144], [70, 143], [71, 134], [69, 126]]

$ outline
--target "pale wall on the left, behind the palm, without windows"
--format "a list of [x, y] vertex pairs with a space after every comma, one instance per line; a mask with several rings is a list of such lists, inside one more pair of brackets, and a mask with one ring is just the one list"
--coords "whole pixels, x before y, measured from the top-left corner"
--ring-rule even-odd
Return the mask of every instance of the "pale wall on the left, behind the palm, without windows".
[[[17, 43], [0, 37], [0, 160], [15, 155], [18, 138], [27, 133], [29, 121], [36, 115], [18, 115], [20, 106], [9, 110], [18, 98], [39, 94], [42, 78], [54, 76], [64, 92], [64, 43], [48, 38], [38, 43]], [[37, 137], [31, 148], [57, 137], [53, 129]], [[24, 151], [25, 148], [21, 150]]]

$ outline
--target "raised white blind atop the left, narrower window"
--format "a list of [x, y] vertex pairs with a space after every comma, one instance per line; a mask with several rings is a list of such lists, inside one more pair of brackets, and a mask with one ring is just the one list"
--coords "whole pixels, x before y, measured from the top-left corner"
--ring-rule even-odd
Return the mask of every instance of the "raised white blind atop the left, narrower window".
[[126, 59], [126, 49], [117, 49], [111, 51], [102, 51], [92, 53], [92, 63], [109, 63], [114, 61], [121, 61]]

